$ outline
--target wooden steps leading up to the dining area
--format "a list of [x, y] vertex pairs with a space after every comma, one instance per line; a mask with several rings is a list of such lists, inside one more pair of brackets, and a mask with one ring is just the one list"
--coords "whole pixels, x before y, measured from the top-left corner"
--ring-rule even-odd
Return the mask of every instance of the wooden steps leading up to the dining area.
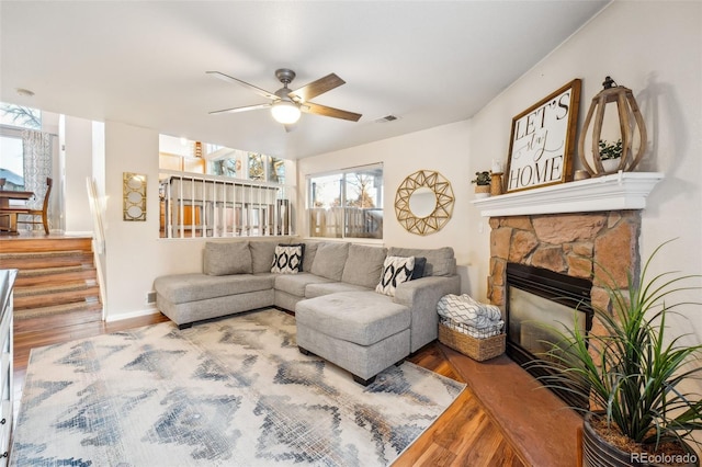
[[102, 319], [91, 238], [0, 239], [0, 269], [19, 270], [15, 331]]

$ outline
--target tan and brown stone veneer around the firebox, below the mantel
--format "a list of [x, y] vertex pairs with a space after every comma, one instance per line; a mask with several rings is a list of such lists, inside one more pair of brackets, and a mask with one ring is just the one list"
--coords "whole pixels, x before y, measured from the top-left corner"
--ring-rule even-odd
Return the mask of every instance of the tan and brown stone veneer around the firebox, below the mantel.
[[592, 280], [592, 306], [602, 309], [602, 284], [611, 281], [601, 267], [618, 288], [627, 287], [627, 274], [638, 277], [641, 210], [491, 217], [490, 228], [488, 299], [502, 310], [508, 262]]

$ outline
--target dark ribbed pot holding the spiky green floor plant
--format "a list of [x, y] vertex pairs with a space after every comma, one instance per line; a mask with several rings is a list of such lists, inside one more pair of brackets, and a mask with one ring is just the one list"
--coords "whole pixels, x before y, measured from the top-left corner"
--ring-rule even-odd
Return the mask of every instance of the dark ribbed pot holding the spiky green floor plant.
[[[642, 462], [641, 455], [634, 455], [619, 449], [604, 441], [590, 425], [591, 413], [585, 417], [582, 422], [582, 466], [584, 467], [629, 467], [629, 466], [665, 466], [667, 464], [650, 464]], [[683, 448], [690, 453], [684, 459], [687, 464], [675, 464], [676, 466], [699, 467], [700, 459], [694, 454], [694, 449], [688, 444]], [[646, 460], [645, 458], [643, 460]]]

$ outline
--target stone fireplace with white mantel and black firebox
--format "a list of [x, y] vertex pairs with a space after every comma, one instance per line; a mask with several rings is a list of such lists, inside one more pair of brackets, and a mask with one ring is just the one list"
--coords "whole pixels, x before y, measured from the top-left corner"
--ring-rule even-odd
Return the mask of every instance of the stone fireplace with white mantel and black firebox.
[[[510, 323], [510, 306], [516, 310], [519, 308], [519, 314], [524, 316], [521, 319], [529, 322], [528, 328], [543, 330], [534, 324], [539, 318], [544, 318], [543, 323], [547, 326], [575, 324], [573, 317], [580, 314], [578, 300], [587, 309], [590, 306], [610, 309], [604, 285], [626, 289], [629, 276], [638, 277], [641, 212], [646, 196], [661, 178], [659, 173], [620, 172], [473, 202], [484, 217], [489, 217], [487, 295], [505, 315], [508, 355], [512, 360], [525, 365], [533, 360], [529, 354], [530, 348], [537, 348], [534, 342], [551, 340], [543, 339], [537, 331], [524, 331], [524, 327]], [[526, 287], [514, 282], [508, 285], [508, 269], [526, 274], [526, 283], [531, 282], [535, 288], [529, 292], [529, 284]], [[510, 281], [514, 281], [513, 273], [510, 276]], [[563, 306], [562, 296], [571, 289], [568, 283], [576, 285], [575, 299]], [[563, 288], [558, 288], [561, 285]], [[555, 292], [548, 297], [542, 293], [544, 289]], [[522, 295], [525, 305], [514, 305], [514, 297]], [[534, 320], [537, 314], [522, 307], [544, 312]], [[558, 314], [561, 318], [554, 318]], [[581, 318], [581, 322], [587, 322], [586, 331], [590, 335], [603, 333], [597, 318], [592, 319], [591, 310]], [[530, 373], [539, 376], [533, 371]]]

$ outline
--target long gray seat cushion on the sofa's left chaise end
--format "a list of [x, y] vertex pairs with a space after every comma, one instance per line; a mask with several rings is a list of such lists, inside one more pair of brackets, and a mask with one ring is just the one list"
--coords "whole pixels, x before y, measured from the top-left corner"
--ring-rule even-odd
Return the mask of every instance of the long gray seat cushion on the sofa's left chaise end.
[[172, 304], [204, 300], [273, 287], [273, 274], [236, 274], [211, 276], [200, 273], [157, 277], [154, 289]]

